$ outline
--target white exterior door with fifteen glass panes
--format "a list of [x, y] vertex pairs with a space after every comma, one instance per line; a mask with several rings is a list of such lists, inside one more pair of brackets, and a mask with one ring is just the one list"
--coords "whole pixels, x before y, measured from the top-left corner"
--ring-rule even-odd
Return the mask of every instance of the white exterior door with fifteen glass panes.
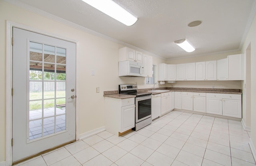
[[75, 140], [76, 43], [13, 28], [13, 162]]

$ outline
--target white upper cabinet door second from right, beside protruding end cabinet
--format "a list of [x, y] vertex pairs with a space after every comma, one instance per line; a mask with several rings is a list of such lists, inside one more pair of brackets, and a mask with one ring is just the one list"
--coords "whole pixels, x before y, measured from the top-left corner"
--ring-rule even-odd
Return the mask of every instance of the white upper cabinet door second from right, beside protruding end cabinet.
[[228, 58], [217, 61], [217, 80], [228, 80]]

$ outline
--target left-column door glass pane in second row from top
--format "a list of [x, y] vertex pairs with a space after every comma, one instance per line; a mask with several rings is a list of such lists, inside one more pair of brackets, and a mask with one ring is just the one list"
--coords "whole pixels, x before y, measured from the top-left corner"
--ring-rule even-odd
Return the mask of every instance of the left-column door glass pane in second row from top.
[[30, 71], [29, 71], [29, 79], [30, 80], [42, 80], [42, 63], [31, 62], [30, 61]]

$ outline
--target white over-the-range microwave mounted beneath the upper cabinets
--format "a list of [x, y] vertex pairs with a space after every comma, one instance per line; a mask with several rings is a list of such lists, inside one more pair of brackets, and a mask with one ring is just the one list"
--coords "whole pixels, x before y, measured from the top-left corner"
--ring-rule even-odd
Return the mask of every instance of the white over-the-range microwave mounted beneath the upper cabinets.
[[142, 76], [143, 64], [134, 61], [120, 61], [119, 62], [119, 76]]

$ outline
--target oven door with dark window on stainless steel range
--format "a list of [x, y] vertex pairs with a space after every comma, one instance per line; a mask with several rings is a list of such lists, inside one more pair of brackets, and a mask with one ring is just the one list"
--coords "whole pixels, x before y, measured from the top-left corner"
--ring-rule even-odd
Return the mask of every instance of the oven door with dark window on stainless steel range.
[[135, 123], [151, 117], [151, 99], [152, 95], [135, 98]]

